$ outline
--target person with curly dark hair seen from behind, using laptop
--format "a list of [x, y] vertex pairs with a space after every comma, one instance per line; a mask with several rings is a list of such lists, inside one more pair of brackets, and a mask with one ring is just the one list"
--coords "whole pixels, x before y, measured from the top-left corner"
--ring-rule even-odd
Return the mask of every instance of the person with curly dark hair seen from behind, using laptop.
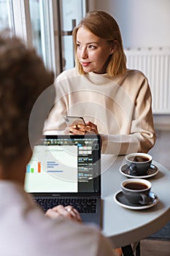
[[34, 49], [0, 34], [0, 255], [111, 256], [107, 238], [83, 224], [72, 206], [45, 214], [23, 189], [26, 165], [53, 105], [53, 79]]

